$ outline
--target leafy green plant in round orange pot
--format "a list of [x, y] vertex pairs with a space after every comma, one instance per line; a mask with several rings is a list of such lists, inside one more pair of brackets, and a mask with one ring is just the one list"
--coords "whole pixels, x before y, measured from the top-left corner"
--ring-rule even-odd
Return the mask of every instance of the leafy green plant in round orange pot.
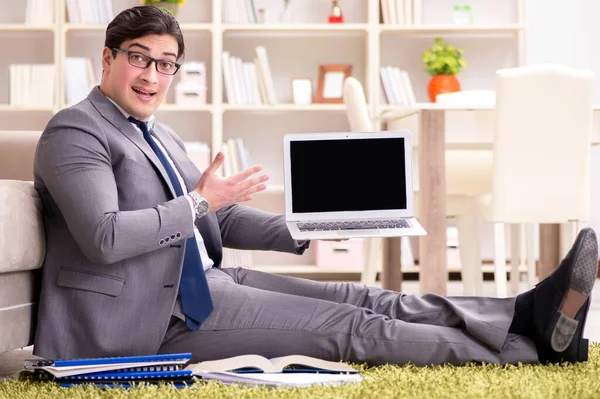
[[432, 102], [440, 93], [460, 91], [456, 75], [467, 65], [462, 49], [446, 44], [438, 37], [433, 46], [423, 53], [423, 63], [425, 71], [432, 77], [427, 88]]

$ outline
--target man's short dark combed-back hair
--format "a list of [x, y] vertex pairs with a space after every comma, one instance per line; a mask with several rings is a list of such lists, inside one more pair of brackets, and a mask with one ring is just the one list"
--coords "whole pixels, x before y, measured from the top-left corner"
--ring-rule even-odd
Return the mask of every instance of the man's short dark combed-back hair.
[[126, 40], [147, 35], [173, 36], [177, 40], [177, 59], [183, 57], [185, 45], [179, 23], [167, 11], [154, 6], [137, 6], [121, 11], [106, 28], [104, 46], [120, 48]]

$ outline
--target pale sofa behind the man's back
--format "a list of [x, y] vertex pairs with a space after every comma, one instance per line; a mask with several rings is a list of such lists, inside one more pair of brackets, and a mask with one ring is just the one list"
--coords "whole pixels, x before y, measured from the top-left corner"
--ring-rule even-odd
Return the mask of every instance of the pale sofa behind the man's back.
[[33, 188], [40, 132], [0, 131], [0, 352], [31, 345], [45, 254], [42, 204]]

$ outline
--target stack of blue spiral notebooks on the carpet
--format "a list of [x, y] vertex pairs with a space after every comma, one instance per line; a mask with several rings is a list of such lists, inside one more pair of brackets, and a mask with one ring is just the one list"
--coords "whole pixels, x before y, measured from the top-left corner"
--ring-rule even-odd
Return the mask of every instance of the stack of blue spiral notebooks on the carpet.
[[191, 358], [191, 353], [175, 353], [72, 360], [32, 359], [25, 361], [25, 370], [36, 379], [55, 381], [64, 387], [87, 383], [129, 387], [140, 382], [166, 382], [181, 387], [193, 384], [192, 371], [183, 370]]

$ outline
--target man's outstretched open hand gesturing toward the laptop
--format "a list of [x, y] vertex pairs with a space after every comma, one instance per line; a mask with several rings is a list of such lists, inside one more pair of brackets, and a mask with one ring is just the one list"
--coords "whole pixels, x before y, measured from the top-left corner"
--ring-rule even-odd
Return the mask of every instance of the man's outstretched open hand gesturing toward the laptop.
[[252, 194], [267, 188], [263, 182], [269, 180], [269, 176], [261, 175], [250, 178], [262, 170], [260, 165], [245, 169], [230, 177], [217, 176], [216, 171], [223, 164], [224, 159], [225, 156], [219, 151], [210, 166], [202, 173], [194, 188], [208, 201], [209, 212], [216, 212], [238, 202], [250, 201]]

